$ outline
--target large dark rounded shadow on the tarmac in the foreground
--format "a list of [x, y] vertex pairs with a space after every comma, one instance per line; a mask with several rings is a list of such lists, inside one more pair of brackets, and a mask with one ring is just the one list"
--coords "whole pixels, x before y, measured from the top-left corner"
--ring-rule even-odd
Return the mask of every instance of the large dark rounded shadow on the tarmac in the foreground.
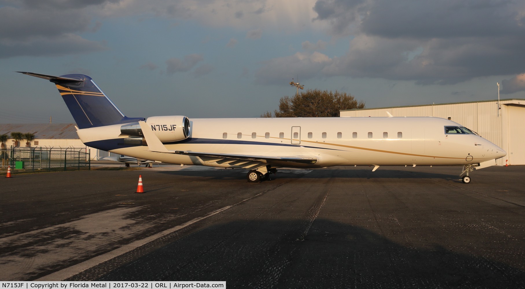
[[[164, 240], [168, 244], [160, 249], [135, 249], [119, 257], [127, 264], [110, 260], [70, 280], [226, 281], [228, 288], [525, 287], [522, 269], [486, 256], [455, 252], [432, 241], [426, 248], [415, 248], [325, 219], [309, 226], [307, 220], [238, 220], [198, 228], [186, 236], [175, 232], [166, 236], [172, 241]], [[465, 251], [493, 241], [483, 239], [449, 246]], [[502, 260], [523, 253], [491, 246], [479, 249]], [[499, 250], [507, 255], [499, 255]]]

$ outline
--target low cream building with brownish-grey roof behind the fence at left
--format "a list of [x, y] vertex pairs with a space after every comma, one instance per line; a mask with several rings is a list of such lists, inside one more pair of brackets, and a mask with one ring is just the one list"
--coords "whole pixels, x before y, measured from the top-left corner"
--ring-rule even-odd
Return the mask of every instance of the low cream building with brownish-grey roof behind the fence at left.
[[[35, 140], [31, 142], [32, 147], [60, 147], [89, 149], [90, 159], [97, 160], [104, 156], [119, 156], [106, 151], [86, 146], [80, 141], [74, 123], [23, 123], [23, 124], [3, 124], [0, 123], [0, 134], [10, 136], [11, 132], [33, 133]], [[7, 148], [13, 146], [15, 140], [9, 138], [6, 142]], [[26, 146], [26, 140], [20, 141], [20, 147]]]

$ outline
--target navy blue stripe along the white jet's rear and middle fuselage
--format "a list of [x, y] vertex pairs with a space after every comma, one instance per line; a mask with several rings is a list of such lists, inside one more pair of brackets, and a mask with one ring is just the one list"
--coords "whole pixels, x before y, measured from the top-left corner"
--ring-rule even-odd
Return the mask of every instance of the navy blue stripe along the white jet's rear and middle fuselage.
[[[140, 144], [125, 144], [123, 138], [113, 138], [111, 140], [101, 140], [94, 142], [85, 143], [89, 147], [102, 149], [103, 151], [111, 151], [117, 148], [127, 148], [141, 146]], [[320, 148], [320, 149], [331, 149], [334, 151], [342, 151], [342, 149], [335, 148], [324, 148], [316, 146], [303, 146], [303, 145], [292, 145], [292, 144], [279, 144], [279, 143], [265, 143], [265, 142], [250, 142], [250, 141], [235, 141], [235, 140], [214, 140], [213, 138], [186, 138], [186, 140], [178, 142], [165, 142], [167, 144], [241, 144], [241, 145], [275, 145], [275, 146], [291, 146], [291, 147], [307, 147], [307, 148]]]

